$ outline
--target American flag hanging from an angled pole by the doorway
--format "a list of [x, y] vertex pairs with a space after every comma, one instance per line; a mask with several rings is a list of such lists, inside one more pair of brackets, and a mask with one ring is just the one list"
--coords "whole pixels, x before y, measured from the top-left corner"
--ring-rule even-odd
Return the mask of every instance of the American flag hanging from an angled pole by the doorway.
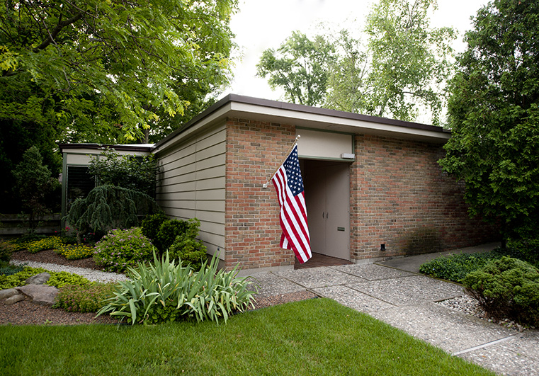
[[280, 228], [283, 230], [280, 247], [292, 249], [300, 263], [305, 263], [311, 258], [311, 245], [297, 145], [271, 181], [277, 190], [280, 205]]

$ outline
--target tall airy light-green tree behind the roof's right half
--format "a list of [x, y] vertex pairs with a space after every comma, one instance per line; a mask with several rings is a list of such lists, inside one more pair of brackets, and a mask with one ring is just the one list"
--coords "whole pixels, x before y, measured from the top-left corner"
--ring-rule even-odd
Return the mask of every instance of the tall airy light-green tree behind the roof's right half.
[[428, 11], [436, 8], [436, 0], [412, 1], [380, 0], [367, 17], [370, 90], [365, 112], [415, 120], [420, 104], [439, 125], [455, 31], [429, 25]]

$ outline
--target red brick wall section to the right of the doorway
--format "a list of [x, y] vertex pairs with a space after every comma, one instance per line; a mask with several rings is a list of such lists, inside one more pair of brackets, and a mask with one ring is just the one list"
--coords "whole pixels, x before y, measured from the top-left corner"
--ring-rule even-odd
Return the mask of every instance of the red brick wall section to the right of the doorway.
[[[351, 166], [351, 258], [457, 249], [496, 234], [470, 220], [463, 184], [438, 165], [443, 148], [424, 142], [356, 135]], [[385, 244], [386, 251], [380, 251]]]

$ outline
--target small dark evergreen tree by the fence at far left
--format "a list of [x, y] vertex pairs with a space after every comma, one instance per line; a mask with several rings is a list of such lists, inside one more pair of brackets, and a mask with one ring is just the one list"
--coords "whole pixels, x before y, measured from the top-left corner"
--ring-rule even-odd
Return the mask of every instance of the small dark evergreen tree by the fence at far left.
[[21, 197], [23, 210], [29, 215], [30, 232], [34, 231], [40, 217], [50, 212], [46, 203], [47, 195], [59, 186], [42, 161], [38, 148], [30, 147], [13, 170], [17, 194]]

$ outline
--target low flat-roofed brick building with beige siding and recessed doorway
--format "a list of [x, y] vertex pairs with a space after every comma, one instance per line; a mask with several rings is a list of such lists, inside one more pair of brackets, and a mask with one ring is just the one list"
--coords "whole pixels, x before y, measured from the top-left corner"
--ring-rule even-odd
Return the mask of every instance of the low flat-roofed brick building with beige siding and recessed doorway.
[[315, 253], [360, 263], [496, 239], [438, 166], [450, 137], [441, 127], [232, 94], [148, 147], [161, 166], [157, 202], [197, 217], [227, 268], [293, 268], [276, 193], [262, 187], [297, 135]]

